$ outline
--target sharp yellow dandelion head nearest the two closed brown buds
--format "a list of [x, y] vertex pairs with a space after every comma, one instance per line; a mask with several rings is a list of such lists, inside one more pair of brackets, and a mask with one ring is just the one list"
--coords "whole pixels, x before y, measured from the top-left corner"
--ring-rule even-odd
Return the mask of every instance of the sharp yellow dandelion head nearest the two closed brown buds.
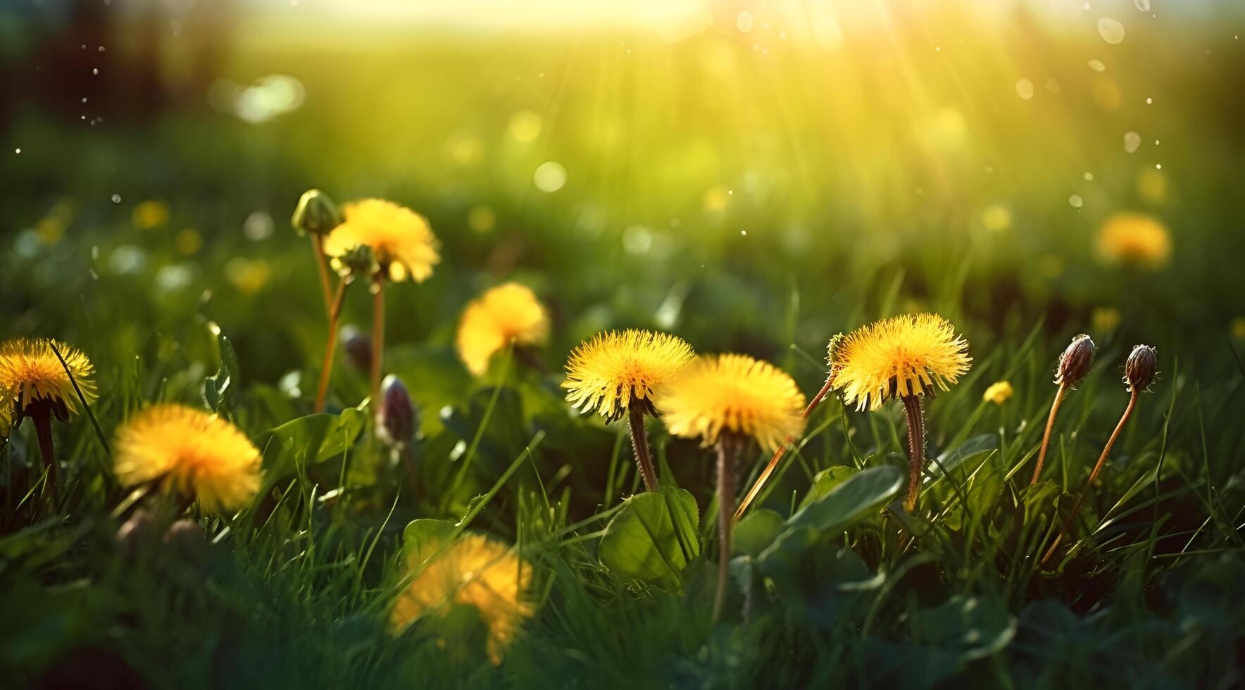
[[834, 352], [834, 387], [857, 410], [876, 410], [888, 400], [946, 390], [972, 359], [969, 343], [937, 314], [891, 316], [849, 333]]

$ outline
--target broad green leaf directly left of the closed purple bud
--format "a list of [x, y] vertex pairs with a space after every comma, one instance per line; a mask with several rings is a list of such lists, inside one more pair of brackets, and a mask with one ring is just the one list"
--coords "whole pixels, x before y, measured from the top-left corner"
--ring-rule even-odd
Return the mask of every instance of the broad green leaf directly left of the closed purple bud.
[[299, 468], [340, 456], [359, 438], [366, 414], [347, 407], [341, 415], [308, 415], [268, 432], [264, 442], [264, 481], [271, 486]]

